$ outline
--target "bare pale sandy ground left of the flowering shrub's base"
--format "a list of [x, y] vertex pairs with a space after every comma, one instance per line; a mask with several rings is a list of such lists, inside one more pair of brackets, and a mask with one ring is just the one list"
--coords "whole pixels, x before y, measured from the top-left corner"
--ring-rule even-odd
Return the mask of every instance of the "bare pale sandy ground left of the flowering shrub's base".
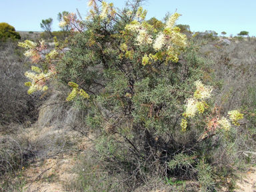
[[[28, 134], [33, 135], [33, 139], [37, 139], [36, 135], [43, 135], [43, 132], [49, 131], [49, 127], [41, 129], [40, 133], [31, 129]], [[60, 132], [60, 130], [58, 131]], [[78, 132], [73, 131], [74, 135]], [[54, 133], [54, 132], [53, 132]], [[37, 159], [28, 168], [23, 170], [23, 177], [27, 178], [27, 184], [23, 187], [23, 191], [36, 192], [62, 192], [65, 190], [65, 183], [72, 181], [77, 177], [71, 172], [72, 167], [77, 163], [77, 156], [92, 146], [91, 140], [93, 135], [83, 137], [78, 145], [77, 151], [63, 151], [61, 153], [49, 154], [49, 158], [41, 161]]]

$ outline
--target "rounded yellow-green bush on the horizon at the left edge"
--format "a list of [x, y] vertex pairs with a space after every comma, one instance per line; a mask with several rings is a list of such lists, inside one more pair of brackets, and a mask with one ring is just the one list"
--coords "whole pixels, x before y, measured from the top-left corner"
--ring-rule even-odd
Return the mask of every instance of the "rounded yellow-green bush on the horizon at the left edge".
[[0, 39], [6, 41], [8, 38], [21, 39], [21, 35], [15, 31], [15, 28], [8, 23], [0, 23]]

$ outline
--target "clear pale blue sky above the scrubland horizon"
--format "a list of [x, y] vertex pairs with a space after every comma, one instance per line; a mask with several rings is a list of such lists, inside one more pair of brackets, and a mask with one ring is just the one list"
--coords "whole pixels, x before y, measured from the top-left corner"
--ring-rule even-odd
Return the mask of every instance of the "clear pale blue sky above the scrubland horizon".
[[[107, 0], [121, 9], [125, 0]], [[87, 14], [87, 0], [0, 0], [0, 23], [9, 23], [16, 31], [42, 31], [42, 19], [53, 18], [53, 31], [59, 31], [57, 14], [62, 11]], [[159, 20], [165, 14], [180, 13], [177, 24], [189, 25], [191, 31], [216, 31], [221, 35], [237, 35], [240, 31], [249, 31], [256, 36], [256, 0], [147, 0], [143, 8], [147, 9], [146, 19]]]

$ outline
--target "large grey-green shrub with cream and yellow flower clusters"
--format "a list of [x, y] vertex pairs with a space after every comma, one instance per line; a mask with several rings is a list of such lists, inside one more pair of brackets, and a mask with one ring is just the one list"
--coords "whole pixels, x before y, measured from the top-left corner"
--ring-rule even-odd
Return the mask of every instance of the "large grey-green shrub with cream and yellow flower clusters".
[[[41, 61], [36, 73], [26, 73], [29, 93], [44, 89], [51, 79], [68, 85], [66, 101], [83, 111], [85, 123], [98, 133], [96, 150], [105, 169], [120, 174], [129, 190], [152, 175], [197, 179], [202, 190], [214, 190], [214, 178], [230, 165], [216, 170], [216, 157], [229, 159], [234, 153], [227, 151], [238, 149], [243, 113], [211, 99], [221, 82], [213, 81], [207, 60], [199, 56], [200, 43], [187, 41], [175, 27], [180, 15], [152, 25], [140, 3], [117, 14], [112, 3], [103, 1], [100, 10], [89, 1], [87, 20], [67, 15], [73, 33], [65, 44], [55, 38], [55, 50], [44, 60], [27, 54]], [[20, 45], [27, 53], [36, 46], [30, 41]], [[69, 51], [63, 53], [65, 47]]]

